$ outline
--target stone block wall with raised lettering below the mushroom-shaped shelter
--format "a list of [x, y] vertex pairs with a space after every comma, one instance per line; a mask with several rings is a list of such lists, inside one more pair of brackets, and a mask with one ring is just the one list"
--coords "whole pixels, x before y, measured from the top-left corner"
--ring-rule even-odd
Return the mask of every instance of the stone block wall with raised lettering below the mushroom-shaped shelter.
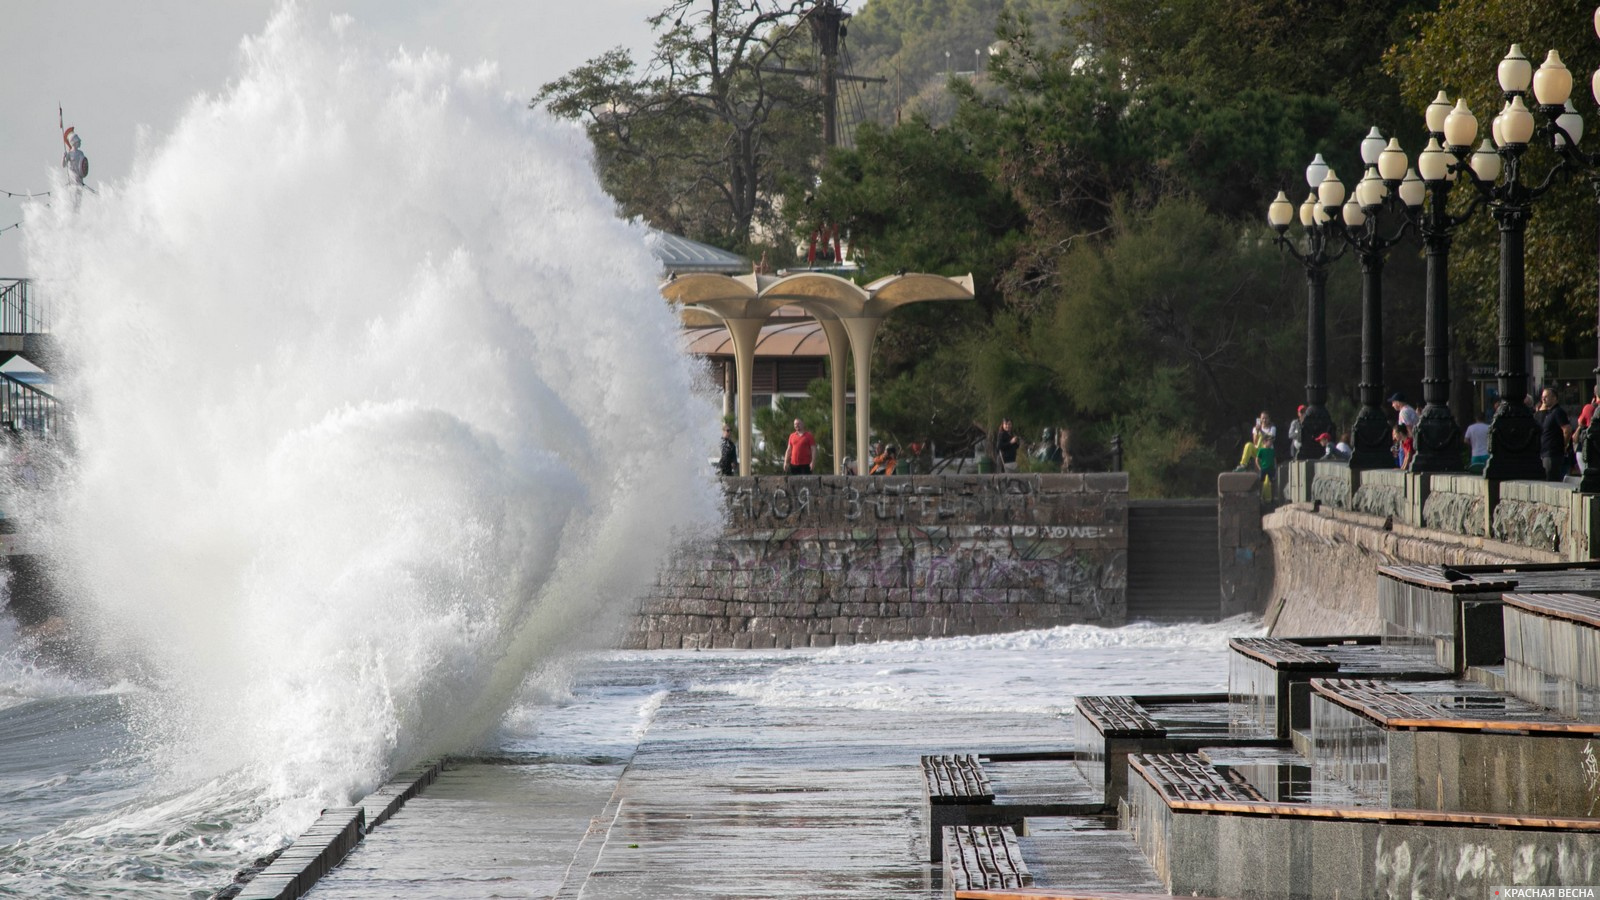
[[1125, 474], [723, 479], [630, 649], [832, 647], [1126, 618]]

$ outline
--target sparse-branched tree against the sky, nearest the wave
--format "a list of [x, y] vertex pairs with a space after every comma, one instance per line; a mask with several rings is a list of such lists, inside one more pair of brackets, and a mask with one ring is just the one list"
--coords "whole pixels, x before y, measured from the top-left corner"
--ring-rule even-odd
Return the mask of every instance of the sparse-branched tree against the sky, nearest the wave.
[[810, 0], [674, 0], [650, 19], [640, 70], [611, 50], [539, 88], [533, 106], [584, 122], [624, 215], [725, 247], [771, 237], [786, 189], [821, 152], [814, 88], [776, 69], [811, 53]]

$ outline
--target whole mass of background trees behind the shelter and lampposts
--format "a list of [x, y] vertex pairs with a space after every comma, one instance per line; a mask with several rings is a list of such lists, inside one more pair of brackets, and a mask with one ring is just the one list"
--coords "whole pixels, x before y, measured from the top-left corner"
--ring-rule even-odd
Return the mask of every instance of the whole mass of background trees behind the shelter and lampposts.
[[[886, 437], [958, 445], [1010, 415], [1024, 437], [1070, 429], [1093, 460], [1120, 434], [1146, 495], [1210, 493], [1258, 410], [1286, 420], [1304, 400], [1304, 271], [1264, 211], [1278, 189], [1306, 195], [1314, 154], [1354, 186], [1378, 125], [1414, 159], [1440, 88], [1488, 122], [1512, 42], [1534, 62], [1558, 48], [1579, 85], [1600, 66], [1592, 6], [1570, 0], [870, 0], [845, 64], [890, 85], [861, 93], [878, 99], [854, 110], [853, 146], [824, 151], [814, 80], [776, 74], [814, 67], [798, 29], [811, 5], [675, 0], [643, 69], [613, 51], [539, 102], [589, 125], [624, 211], [662, 227], [781, 247], [837, 223], [869, 277], [971, 272], [979, 303], [888, 320], [874, 364]], [[1531, 171], [1552, 165], [1530, 151]], [[1590, 183], [1563, 173], [1528, 231], [1530, 336], [1566, 356], [1590, 352], [1595, 328]], [[1469, 202], [1458, 186], [1454, 208]], [[1488, 216], [1458, 234], [1451, 275], [1453, 352], [1490, 359]], [[1358, 283], [1354, 261], [1334, 266], [1344, 423]], [[1422, 293], [1419, 245], [1402, 243], [1384, 277], [1387, 389], [1416, 392]]]

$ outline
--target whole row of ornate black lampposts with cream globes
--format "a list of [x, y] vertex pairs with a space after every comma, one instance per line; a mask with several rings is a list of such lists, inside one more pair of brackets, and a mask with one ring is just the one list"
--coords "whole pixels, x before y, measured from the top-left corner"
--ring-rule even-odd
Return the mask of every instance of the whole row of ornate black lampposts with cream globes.
[[[1600, 10], [1595, 10], [1595, 34], [1600, 35]], [[1488, 207], [1499, 226], [1499, 404], [1490, 424], [1490, 460], [1483, 476], [1493, 480], [1539, 479], [1539, 428], [1533, 412], [1522, 402], [1526, 394], [1525, 372], [1525, 234], [1534, 202], [1568, 167], [1600, 170], [1600, 154], [1578, 149], [1584, 120], [1573, 109], [1573, 74], [1557, 51], [1550, 51], [1534, 69], [1512, 45], [1499, 62], [1498, 80], [1504, 107], [1494, 115], [1490, 136], [1478, 143], [1478, 120], [1464, 99], [1454, 104], [1440, 91], [1427, 106], [1429, 141], [1416, 157], [1416, 167], [1400, 143], [1384, 139], [1373, 128], [1362, 141], [1366, 171], [1352, 192], [1323, 162], [1322, 154], [1306, 168], [1310, 187], [1296, 208], [1280, 191], [1267, 208], [1267, 221], [1278, 234], [1278, 243], [1306, 267], [1307, 352], [1306, 352], [1306, 424], [1302, 432], [1320, 434], [1331, 426], [1326, 404], [1325, 359], [1325, 290], [1328, 266], [1355, 250], [1362, 259], [1362, 412], [1352, 429], [1352, 468], [1392, 468], [1387, 450], [1387, 420], [1379, 405], [1382, 396], [1382, 264], [1387, 251], [1405, 231], [1416, 229], [1427, 259], [1426, 331], [1424, 331], [1424, 410], [1416, 431], [1413, 471], [1461, 469], [1461, 429], [1450, 413], [1448, 368], [1448, 298], [1450, 247], [1458, 226], [1480, 207]], [[1592, 88], [1600, 102], [1600, 72]], [[1528, 102], [1533, 102], [1530, 109]], [[1536, 120], [1534, 110], [1542, 117]], [[1542, 178], [1523, 181], [1523, 154], [1536, 139], [1546, 139], [1555, 152], [1555, 163]], [[1600, 175], [1595, 175], [1600, 189]], [[1461, 215], [1446, 211], [1450, 191], [1458, 183], [1472, 186], [1472, 203]], [[1597, 194], [1600, 195], [1600, 194]], [[1398, 208], [1403, 218], [1392, 234], [1379, 227], [1379, 215]], [[1288, 239], [1290, 224], [1299, 219], [1304, 235]], [[1333, 245], [1338, 243], [1338, 250]], [[1595, 370], [1600, 378], [1600, 368]], [[1317, 421], [1312, 423], [1312, 415]], [[1309, 445], [1309, 447], [1307, 447]], [[1315, 442], [1302, 442], [1301, 456], [1317, 456]], [[1581, 490], [1600, 492], [1600, 440], [1584, 448], [1586, 479]], [[1597, 472], [1594, 479], [1587, 472]], [[1590, 484], [1594, 480], [1594, 484]]]

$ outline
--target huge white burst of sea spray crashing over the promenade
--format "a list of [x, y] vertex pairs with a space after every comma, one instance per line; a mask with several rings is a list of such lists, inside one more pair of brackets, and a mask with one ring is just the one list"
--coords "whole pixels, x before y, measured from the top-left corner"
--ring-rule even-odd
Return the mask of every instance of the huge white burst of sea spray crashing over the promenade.
[[29, 211], [74, 423], [37, 520], [174, 786], [293, 828], [469, 749], [714, 520], [645, 231], [493, 67], [290, 5], [131, 171]]

